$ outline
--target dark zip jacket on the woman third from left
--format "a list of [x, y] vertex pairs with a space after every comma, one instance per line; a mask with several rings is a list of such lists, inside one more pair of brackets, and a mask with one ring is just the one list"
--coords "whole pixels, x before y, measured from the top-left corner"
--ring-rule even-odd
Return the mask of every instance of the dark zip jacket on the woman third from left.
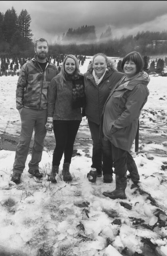
[[88, 120], [100, 124], [104, 104], [112, 88], [124, 76], [118, 71], [107, 70], [100, 84], [96, 85], [92, 73], [84, 74], [84, 88], [86, 94], [85, 113]]

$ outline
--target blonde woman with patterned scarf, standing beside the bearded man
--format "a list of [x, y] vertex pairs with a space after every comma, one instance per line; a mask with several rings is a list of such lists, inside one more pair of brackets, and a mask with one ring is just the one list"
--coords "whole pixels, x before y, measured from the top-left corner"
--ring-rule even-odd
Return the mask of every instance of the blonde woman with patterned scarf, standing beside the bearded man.
[[64, 153], [63, 180], [72, 179], [69, 172], [75, 137], [82, 120], [81, 108], [85, 105], [84, 77], [80, 74], [77, 58], [65, 57], [60, 73], [48, 89], [47, 130], [54, 131], [56, 146], [53, 152], [49, 181], [56, 183], [59, 164]]

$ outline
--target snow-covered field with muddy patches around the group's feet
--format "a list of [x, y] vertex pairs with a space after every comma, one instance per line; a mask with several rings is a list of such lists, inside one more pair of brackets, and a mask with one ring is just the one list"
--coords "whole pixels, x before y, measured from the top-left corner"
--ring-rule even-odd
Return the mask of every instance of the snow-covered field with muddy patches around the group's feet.
[[[0, 150], [0, 256], [167, 256], [167, 77], [150, 79], [139, 152], [133, 154], [140, 182], [134, 187], [128, 179], [125, 200], [102, 195], [115, 189], [115, 177], [111, 184], [102, 177], [88, 182], [92, 144], [87, 153], [77, 145], [72, 182], [61, 179], [62, 159], [57, 184], [47, 181], [53, 151], [43, 151], [40, 181], [28, 174], [28, 155], [22, 182], [16, 185], [10, 181], [15, 152]], [[0, 136], [20, 134], [17, 80], [0, 77]], [[86, 118], [79, 133], [90, 138]]]

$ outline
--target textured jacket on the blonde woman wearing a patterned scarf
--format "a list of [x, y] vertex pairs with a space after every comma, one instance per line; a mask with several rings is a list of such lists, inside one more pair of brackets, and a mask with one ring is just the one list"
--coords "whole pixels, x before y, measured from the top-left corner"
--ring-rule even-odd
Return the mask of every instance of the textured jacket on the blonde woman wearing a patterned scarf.
[[[76, 84], [77, 81], [81, 82], [83, 80], [77, 80], [76, 78]], [[59, 74], [51, 80], [48, 88], [47, 116], [53, 117], [53, 120], [82, 120], [81, 107], [73, 108], [72, 80], [67, 80], [63, 86]]]

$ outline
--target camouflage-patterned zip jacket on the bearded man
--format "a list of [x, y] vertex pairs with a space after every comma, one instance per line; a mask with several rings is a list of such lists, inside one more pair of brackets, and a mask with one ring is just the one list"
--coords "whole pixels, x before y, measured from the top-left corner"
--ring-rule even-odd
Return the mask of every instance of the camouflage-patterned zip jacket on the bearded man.
[[49, 58], [45, 72], [35, 58], [26, 62], [20, 71], [16, 89], [16, 108], [47, 109], [48, 85], [57, 75], [57, 68]]

